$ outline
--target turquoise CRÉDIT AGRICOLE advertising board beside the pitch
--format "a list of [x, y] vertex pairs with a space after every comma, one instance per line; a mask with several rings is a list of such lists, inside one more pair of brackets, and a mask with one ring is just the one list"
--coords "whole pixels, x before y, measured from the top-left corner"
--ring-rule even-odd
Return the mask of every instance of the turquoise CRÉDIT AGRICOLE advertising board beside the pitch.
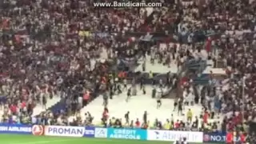
[[107, 129], [107, 138], [138, 139], [146, 140], [146, 130], [140, 129]]

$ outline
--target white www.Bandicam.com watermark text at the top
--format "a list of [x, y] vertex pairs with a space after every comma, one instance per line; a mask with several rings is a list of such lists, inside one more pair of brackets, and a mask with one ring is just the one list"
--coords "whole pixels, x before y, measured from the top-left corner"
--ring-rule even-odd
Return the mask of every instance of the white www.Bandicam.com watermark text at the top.
[[94, 2], [94, 7], [161, 7], [161, 2]]

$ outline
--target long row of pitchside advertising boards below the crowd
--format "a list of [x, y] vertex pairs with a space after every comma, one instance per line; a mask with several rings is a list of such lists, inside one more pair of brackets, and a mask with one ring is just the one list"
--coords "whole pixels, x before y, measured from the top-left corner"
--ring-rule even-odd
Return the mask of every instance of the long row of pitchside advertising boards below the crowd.
[[41, 126], [0, 124], [0, 134], [30, 134], [77, 138], [120, 138], [142, 141], [174, 142], [186, 137], [187, 142], [225, 142], [226, 134], [199, 131], [142, 130], [129, 128], [102, 128], [94, 126]]

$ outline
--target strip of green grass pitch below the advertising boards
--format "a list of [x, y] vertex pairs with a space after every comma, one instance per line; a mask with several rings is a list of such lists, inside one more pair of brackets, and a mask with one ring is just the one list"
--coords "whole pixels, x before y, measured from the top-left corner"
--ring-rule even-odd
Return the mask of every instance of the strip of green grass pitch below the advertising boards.
[[[1, 144], [170, 144], [171, 142], [138, 141], [106, 138], [69, 138], [0, 134]], [[194, 143], [197, 144], [197, 143]], [[199, 144], [199, 143], [198, 143]], [[209, 144], [209, 143], [208, 143]]]

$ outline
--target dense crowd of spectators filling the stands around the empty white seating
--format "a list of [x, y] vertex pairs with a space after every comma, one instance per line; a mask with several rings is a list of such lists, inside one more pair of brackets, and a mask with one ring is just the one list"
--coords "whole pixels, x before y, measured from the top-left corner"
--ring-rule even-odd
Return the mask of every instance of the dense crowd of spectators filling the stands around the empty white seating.
[[[187, 95], [192, 95], [194, 102], [201, 102], [204, 107], [202, 115], [193, 118], [195, 122], [171, 119], [154, 122], [153, 128], [238, 130], [254, 134], [256, 2], [163, 1], [165, 5], [155, 7], [149, 17], [145, 8], [96, 8], [91, 2], [10, 0], [0, 3], [1, 93], [6, 96], [1, 103], [3, 122], [35, 123], [40, 119], [42, 124], [82, 125], [83, 122], [67, 122], [67, 117], [78, 113], [96, 97], [95, 91], [112, 91], [109, 83], [118, 74], [113, 67], [119, 57], [149, 54], [153, 61], [158, 58], [166, 64], [175, 62], [182, 71], [186, 69], [186, 61], [198, 58], [197, 54], [206, 50], [215, 67], [222, 63], [226, 69], [225, 83], [214, 82], [214, 74], [210, 74], [212, 81], [206, 91], [193, 97], [195, 91], [190, 87], [194, 83], [190, 78], [194, 74], [186, 74], [186, 82], [178, 83], [182, 94], [177, 94], [177, 105], [181, 103], [182, 109]], [[168, 37], [158, 40], [154, 46], [142, 46], [136, 37], [127, 36], [138, 31], [164, 33]], [[165, 50], [158, 49], [159, 42], [167, 44]], [[170, 42], [177, 43], [179, 48], [169, 46]], [[100, 60], [102, 57], [105, 60]], [[184, 75], [178, 76], [179, 80], [184, 79]], [[81, 103], [80, 97], [86, 93], [93, 95]], [[48, 99], [58, 96], [66, 99], [66, 110], [30, 117], [34, 106], [45, 106]], [[104, 112], [107, 113], [107, 108]], [[87, 115], [86, 125], [91, 125], [93, 115]], [[193, 114], [186, 115], [190, 120]], [[222, 115], [221, 122], [207, 121]], [[107, 119], [102, 118], [106, 126], [122, 125], [119, 120], [108, 122]], [[198, 121], [202, 121], [202, 126]], [[134, 120], [130, 126], [150, 127], [146, 118], [142, 122]]]

